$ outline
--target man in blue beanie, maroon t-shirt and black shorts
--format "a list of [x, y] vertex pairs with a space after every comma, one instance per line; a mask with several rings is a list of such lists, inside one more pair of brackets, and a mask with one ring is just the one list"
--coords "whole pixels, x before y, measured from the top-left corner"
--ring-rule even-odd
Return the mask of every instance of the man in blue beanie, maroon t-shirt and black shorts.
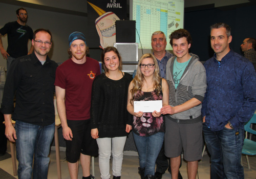
[[90, 174], [91, 156], [98, 155], [98, 145], [91, 137], [90, 106], [94, 78], [100, 74], [99, 62], [87, 57], [89, 48], [81, 32], [69, 36], [71, 58], [58, 66], [55, 89], [57, 109], [66, 139], [66, 157], [70, 177], [78, 177], [80, 158], [83, 177], [93, 179]]

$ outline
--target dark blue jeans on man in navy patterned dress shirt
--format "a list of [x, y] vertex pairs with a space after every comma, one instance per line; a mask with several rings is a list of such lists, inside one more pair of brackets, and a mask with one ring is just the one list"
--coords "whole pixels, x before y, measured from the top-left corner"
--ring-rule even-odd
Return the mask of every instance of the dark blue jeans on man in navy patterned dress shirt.
[[244, 178], [241, 165], [244, 128], [211, 131], [203, 124], [204, 140], [210, 153], [210, 178]]

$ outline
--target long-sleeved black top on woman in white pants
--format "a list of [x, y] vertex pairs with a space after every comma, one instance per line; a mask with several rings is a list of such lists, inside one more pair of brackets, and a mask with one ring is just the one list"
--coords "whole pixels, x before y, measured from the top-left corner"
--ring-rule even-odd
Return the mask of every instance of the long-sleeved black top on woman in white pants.
[[127, 111], [128, 87], [132, 75], [124, 73], [120, 80], [112, 80], [101, 74], [92, 85], [91, 128], [98, 128], [99, 138], [129, 135], [126, 124], [132, 125], [132, 115]]

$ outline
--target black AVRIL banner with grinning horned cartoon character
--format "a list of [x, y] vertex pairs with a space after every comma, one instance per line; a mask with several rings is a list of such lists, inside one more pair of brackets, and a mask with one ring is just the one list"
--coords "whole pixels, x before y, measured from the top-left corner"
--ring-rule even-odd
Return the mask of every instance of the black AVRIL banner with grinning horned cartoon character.
[[98, 38], [92, 45], [100, 45], [102, 49], [113, 46], [116, 42], [115, 21], [126, 20], [126, 0], [89, 0], [87, 3], [89, 27], [95, 26], [94, 30], [90, 30], [90, 34]]

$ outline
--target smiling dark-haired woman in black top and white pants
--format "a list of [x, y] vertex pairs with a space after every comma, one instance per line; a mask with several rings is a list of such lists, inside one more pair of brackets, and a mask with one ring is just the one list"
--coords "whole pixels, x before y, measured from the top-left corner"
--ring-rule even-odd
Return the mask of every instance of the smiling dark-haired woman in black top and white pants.
[[[105, 73], [92, 86], [91, 135], [99, 146], [99, 168], [102, 179], [109, 179], [112, 151], [113, 178], [121, 177], [123, 148], [132, 129], [132, 115], [126, 110], [127, 92], [132, 75], [121, 71], [121, 57], [114, 47], [101, 54]], [[111, 150], [112, 144], [112, 150]]]

